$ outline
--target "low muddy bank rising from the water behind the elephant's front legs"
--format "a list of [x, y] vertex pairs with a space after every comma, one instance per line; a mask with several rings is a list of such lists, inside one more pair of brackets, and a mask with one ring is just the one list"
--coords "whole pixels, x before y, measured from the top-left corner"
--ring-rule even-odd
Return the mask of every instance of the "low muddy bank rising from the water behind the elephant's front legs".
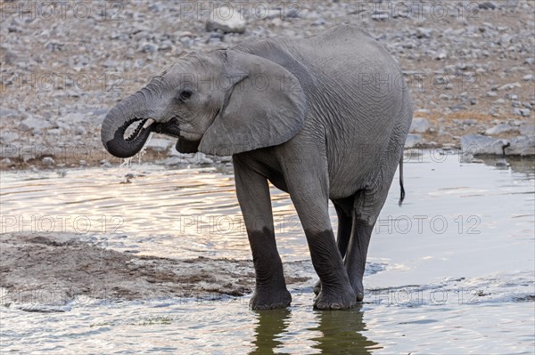
[[[62, 305], [75, 297], [109, 302], [154, 298], [217, 299], [252, 292], [251, 260], [177, 260], [119, 253], [75, 234], [4, 234], [2, 304]], [[289, 287], [311, 286], [310, 262], [284, 265]]]

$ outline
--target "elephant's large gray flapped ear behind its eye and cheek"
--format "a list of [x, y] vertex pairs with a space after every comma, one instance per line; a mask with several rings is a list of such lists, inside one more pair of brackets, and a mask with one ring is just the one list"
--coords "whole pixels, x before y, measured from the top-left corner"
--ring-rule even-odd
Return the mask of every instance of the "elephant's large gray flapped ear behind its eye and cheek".
[[229, 156], [290, 140], [303, 126], [306, 113], [297, 77], [259, 56], [225, 52], [226, 69], [234, 79], [199, 150]]

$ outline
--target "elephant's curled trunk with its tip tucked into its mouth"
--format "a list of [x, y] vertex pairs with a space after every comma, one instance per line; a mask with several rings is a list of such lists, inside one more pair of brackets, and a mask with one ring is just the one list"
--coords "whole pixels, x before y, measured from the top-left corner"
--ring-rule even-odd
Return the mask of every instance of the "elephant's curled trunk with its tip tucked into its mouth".
[[[144, 88], [127, 99], [120, 101], [103, 121], [101, 138], [103, 145], [115, 157], [133, 157], [144, 147], [152, 132], [147, 121], [153, 118], [153, 110], [147, 100], [150, 92]], [[125, 137], [131, 125], [136, 125], [133, 133]]]

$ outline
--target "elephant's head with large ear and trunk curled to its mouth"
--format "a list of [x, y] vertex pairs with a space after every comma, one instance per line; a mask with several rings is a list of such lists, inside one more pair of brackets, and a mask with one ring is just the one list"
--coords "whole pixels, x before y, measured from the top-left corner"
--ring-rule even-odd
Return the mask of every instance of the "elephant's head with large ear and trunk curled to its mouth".
[[305, 111], [299, 80], [275, 62], [191, 52], [111, 109], [101, 136], [116, 157], [134, 156], [152, 132], [176, 137], [183, 153], [227, 156], [288, 141]]

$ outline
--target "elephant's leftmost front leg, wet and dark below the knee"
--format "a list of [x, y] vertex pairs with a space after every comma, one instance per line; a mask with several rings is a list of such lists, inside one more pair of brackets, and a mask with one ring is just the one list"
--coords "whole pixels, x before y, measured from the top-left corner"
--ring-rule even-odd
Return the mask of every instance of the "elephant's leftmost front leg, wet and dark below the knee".
[[251, 310], [287, 307], [292, 296], [286, 288], [283, 263], [276, 249], [268, 181], [235, 159], [235, 182], [256, 274]]

